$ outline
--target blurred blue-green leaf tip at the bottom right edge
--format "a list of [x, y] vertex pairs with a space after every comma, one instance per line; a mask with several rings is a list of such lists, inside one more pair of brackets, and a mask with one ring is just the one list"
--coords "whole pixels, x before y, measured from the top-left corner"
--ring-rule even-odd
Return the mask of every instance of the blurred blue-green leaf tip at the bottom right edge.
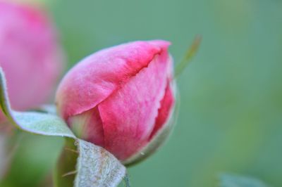
[[219, 187], [267, 187], [258, 179], [233, 174], [222, 174]]

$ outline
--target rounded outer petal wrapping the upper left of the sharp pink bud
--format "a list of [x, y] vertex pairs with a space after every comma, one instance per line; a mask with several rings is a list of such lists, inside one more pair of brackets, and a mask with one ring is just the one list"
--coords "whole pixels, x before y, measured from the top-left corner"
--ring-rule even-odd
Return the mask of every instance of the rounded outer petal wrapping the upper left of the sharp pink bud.
[[62, 80], [56, 94], [67, 119], [94, 108], [135, 76], [169, 45], [166, 41], [135, 41], [104, 49], [78, 63]]

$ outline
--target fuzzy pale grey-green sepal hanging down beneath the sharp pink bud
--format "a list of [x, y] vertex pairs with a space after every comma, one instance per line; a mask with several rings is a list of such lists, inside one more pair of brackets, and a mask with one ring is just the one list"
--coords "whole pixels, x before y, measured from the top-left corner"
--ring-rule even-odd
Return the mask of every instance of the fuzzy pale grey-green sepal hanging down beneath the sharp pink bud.
[[78, 140], [78, 150], [75, 187], [117, 186], [125, 176], [125, 167], [104, 148]]

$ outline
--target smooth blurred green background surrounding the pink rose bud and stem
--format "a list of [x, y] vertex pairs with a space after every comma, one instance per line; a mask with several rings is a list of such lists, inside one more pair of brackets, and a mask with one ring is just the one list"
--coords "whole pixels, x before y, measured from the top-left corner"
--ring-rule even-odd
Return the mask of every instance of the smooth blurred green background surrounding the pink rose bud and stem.
[[[45, 3], [67, 69], [94, 51], [140, 39], [171, 41], [177, 65], [195, 35], [203, 37], [178, 79], [176, 128], [156, 154], [129, 169], [132, 186], [216, 186], [222, 172], [282, 186], [281, 0]], [[38, 186], [61, 145], [61, 138], [24, 134], [6, 186]]]

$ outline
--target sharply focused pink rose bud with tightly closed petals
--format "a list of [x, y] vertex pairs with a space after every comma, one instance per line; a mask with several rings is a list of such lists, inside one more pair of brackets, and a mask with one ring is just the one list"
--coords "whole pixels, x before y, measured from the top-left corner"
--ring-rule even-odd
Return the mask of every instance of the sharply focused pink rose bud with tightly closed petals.
[[168, 46], [135, 41], [83, 59], [59, 84], [59, 114], [79, 138], [125, 164], [147, 157], [171, 127], [175, 98]]

